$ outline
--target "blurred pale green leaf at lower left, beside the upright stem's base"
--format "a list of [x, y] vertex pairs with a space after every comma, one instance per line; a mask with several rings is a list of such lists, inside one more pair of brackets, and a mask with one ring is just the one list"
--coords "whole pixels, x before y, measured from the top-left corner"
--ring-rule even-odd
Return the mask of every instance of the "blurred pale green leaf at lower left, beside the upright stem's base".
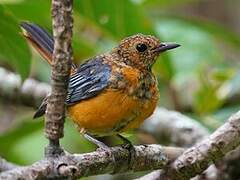
[[[9, 161], [21, 164], [40, 159], [43, 144], [46, 144], [42, 127], [43, 121], [33, 121], [31, 118], [22, 120], [17, 127], [0, 136], [1, 155]], [[38, 132], [42, 137], [37, 135], [40, 135]]]

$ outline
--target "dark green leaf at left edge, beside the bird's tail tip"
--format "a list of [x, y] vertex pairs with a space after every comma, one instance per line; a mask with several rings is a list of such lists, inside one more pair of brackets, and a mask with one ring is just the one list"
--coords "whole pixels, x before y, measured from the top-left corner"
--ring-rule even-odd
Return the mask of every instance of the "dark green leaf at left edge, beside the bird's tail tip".
[[28, 76], [31, 55], [17, 21], [0, 5], [0, 60], [11, 65], [21, 76]]

